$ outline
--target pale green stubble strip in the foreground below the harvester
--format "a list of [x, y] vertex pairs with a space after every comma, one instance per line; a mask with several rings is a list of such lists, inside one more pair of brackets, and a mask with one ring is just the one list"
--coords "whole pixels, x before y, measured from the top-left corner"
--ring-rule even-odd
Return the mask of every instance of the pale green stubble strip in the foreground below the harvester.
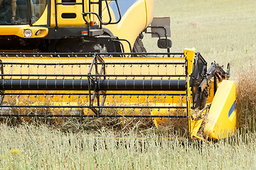
[[0, 125], [0, 136], [0, 169], [250, 169], [256, 153], [255, 134], [200, 145], [157, 132], [64, 133], [23, 124]]

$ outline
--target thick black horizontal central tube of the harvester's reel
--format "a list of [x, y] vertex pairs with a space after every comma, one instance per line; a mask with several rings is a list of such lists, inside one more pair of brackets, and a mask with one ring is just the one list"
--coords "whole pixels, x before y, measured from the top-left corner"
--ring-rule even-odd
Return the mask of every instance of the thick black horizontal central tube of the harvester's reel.
[[184, 79], [0, 79], [0, 90], [31, 91], [185, 91]]

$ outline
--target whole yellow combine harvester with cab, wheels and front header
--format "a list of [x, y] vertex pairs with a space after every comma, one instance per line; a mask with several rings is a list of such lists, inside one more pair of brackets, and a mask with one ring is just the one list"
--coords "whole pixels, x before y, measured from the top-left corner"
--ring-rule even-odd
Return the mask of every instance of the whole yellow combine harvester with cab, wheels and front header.
[[[233, 135], [229, 66], [170, 52], [170, 20], [153, 18], [154, 0], [0, 2], [2, 117], [146, 118], [185, 123], [193, 139]], [[167, 52], [146, 52], [144, 33]]]

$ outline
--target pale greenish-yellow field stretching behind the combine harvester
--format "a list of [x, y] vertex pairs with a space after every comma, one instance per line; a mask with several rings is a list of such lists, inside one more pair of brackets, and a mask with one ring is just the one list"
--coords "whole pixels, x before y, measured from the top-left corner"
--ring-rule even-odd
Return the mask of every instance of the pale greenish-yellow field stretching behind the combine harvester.
[[[230, 62], [236, 78], [240, 69], [256, 67], [255, 8], [255, 0], [156, 0], [155, 16], [171, 17], [171, 52], [195, 47], [208, 64]], [[148, 38], [149, 51], [164, 51]]]

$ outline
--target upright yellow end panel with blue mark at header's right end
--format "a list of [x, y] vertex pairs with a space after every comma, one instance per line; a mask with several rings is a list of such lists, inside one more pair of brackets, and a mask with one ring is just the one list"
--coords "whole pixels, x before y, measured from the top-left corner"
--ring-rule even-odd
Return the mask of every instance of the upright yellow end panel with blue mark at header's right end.
[[205, 137], [217, 140], [233, 135], [237, 125], [235, 97], [235, 81], [223, 80], [216, 91], [206, 118]]

